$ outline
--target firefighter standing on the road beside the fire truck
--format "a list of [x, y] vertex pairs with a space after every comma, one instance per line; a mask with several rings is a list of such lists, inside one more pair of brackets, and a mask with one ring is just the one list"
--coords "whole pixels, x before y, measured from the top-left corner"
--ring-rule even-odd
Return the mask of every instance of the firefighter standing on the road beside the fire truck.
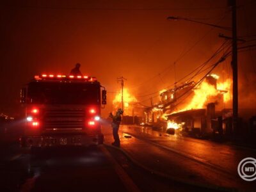
[[116, 146], [116, 147], [120, 147], [120, 140], [119, 140], [119, 136], [118, 136], [118, 129], [119, 129], [119, 125], [121, 123], [122, 120], [122, 114], [124, 113], [123, 109], [118, 109], [116, 111], [116, 115], [114, 116], [112, 113], [109, 114], [109, 117], [111, 117], [113, 119], [112, 122], [112, 128], [113, 128], [113, 138], [114, 138], [114, 142], [112, 143], [112, 145]]

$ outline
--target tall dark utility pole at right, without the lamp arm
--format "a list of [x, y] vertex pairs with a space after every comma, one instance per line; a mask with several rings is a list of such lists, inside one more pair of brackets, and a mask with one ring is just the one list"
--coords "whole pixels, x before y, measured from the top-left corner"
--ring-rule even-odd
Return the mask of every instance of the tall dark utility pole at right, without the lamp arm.
[[233, 71], [233, 131], [238, 128], [238, 85], [237, 85], [237, 26], [236, 0], [230, 0], [232, 6], [232, 71]]

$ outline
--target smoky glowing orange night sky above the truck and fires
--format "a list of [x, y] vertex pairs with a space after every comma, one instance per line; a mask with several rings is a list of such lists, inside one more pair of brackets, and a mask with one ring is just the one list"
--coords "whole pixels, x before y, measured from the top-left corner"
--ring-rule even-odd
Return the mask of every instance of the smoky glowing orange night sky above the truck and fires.
[[[148, 79], [172, 65], [182, 52], [188, 51], [211, 29], [191, 22], [166, 20], [166, 17], [179, 15], [230, 26], [227, 2], [222, 0], [106, 2], [3, 3], [0, 13], [0, 112], [12, 111], [9, 106], [19, 105], [19, 89], [34, 74], [67, 74], [77, 62], [81, 63], [83, 74], [96, 76], [109, 92], [120, 88], [116, 83], [119, 76], [128, 79], [125, 86], [132, 88], [134, 95], [161, 90], [174, 82], [173, 68], [151, 81]], [[238, 3], [251, 3], [237, 11], [238, 35], [255, 34], [255, 3]], [[223, 42], [219, 33], [230, 35], [228, 31], [212, 29], [177, 61], [177, 79], [212, 55]], [[255, 51], [251, 55], [252, 58], [248, 52], [239, 54], [239, 77], [254, 78], [251, 65], [255, 65]], [[230, 60], [216, 72], [223, 73], [223, 69], [225, 75], [230, 76]], [[141, 84], [145, 81], [147, 83]], [[244, 78], [241, 81], [252, 82]], [[113, 96], [108, 93], [106, 111], [111, 111]], [[144, 99], [147, 97], [140, 98]]]

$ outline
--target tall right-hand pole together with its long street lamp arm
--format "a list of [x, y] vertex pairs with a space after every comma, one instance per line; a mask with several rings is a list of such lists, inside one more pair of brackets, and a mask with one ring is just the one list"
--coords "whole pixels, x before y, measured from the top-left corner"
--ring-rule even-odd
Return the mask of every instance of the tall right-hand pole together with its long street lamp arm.
[[218, 26], [216, 24], [210, 24], [207, 22], [201, 22], [193, 19], [187, 19], [184, 17], [167, 17], [168, 20], [188, 20], [191, 22], [196, 22], [198, 24], [204, 24], [207, 26], [212, 26], [214, 28], [225, 29], [232, 31], [232, 74], [233, 74], [233, 131], [237, 131], [238, 127], [238, 88], [237, 88], [237, 26], [236, 26], [236, 0], [228, 1], [229, 6], [232, 7], [232, 28]]

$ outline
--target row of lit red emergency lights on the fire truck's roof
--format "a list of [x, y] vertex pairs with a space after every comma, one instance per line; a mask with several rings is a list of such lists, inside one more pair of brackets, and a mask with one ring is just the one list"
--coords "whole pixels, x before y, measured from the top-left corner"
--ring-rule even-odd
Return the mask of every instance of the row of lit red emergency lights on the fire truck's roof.
[[77, 80], [77, 81], [97, 81], [96, 77], [89, 77], [89, 76], [63, 76], [61, 74], [54, 75], [54, 74], [42, 74], [34, 76], [35, 80], [49, 80], [49, 79], [65, 79], [65, 80]]

